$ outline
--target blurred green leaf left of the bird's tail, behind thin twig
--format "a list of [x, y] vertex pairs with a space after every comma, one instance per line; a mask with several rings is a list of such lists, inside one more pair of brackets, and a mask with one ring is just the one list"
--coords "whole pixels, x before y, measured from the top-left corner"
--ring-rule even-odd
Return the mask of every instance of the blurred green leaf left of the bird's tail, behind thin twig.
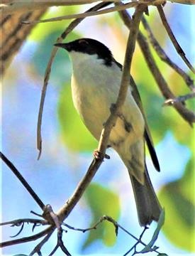
[[[97, 183], [91, 183], [85, 196], [91, 207], [91, 225], [94, 225], [103, 215], [108, 215], [114, 220], [118, 220], [120, 215], [120, 202], [116, 193], [113, 193], [108, 188], [104, 188]], [[113, 224], [104, 220], [103, 223], [98, 225], [96, 230], [91, 230], [82, 249], [89, 246], [95, 240], [102, 240], [107, 246], [114, 245], [116, 242], [116, 233]]]

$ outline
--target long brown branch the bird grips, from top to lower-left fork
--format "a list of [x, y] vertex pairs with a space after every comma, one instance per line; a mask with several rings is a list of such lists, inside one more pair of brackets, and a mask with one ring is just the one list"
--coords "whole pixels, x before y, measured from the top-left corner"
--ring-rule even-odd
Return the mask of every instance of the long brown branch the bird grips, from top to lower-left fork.
[[71, 210], [74, 208], [74, 206], [78, 203], [79, 199], [82, 197], [82, 194], [84, 193], [85, 189], [91, 182], [92, 178], [96, 174], [96, 171], [99, 169], [99, 166], [101, 165], [105, 152], [106, 152], [106, 147], [108, 144], [108, 138], [111, 132], [112, 127], [116, 123], [116, 119], [118, 118], [118, 114], [121, 111], [121, 107], [123, 106], [123, 102], [126, 100], [126, 92], [128, 90], [129, 86], [129, 80], [130, 80], [130, 65], [131, 61], [133, 58], [133, 52], [135, 48], [135, 41], [138, 35], [138, 29], [139, 29], [139, 24], [140, 24], [140, 19], [143, 16], [143, 11], [145, 10], [144, 5], [140, 5], [135, 9], [135, 14], [134, 14], [134, 19], [132, 22], [132, 28], [129, 32], [128, 36], [128, 43], [126, 47], [126, 57], [124, 60], [124, 65], [123, 65], [123, 74], [121, 78], [121, 87], [118, 92], [118, 98], [116, 100], [116, 106], [115, 109], [111, 112], [110, 116], [108, 117], [104, 128], [102, 129], [101, 132], [101, 137], [99, 139], [99, 146], [98, 146], [98, 151], [101, 154], [102, 157], [99, 157], [99, 159], [94, 159], [89, 166], [89, 169], [87, 171], [87, 174], [85, 174], [84, 178], [82, 178], [82, 181], [80, 181], [79, 185], [77, 186], [76, 190], [74, 191], [73, 195], [65, 206], [62, 207], [62, 209], [58, 212], [58, 216], [60, 218], [60, 221], [63, 221]]

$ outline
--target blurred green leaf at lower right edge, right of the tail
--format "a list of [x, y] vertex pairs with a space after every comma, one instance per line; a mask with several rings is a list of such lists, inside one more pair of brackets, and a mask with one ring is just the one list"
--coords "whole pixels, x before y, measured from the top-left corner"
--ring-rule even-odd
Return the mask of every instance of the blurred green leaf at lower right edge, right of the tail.
[[194, 164], [189, 161], [184, 176], [166, 184], [159, 193], [165, 206], [166, 218], [162, 231], [167, 238], [184, 250], [195, 252]]

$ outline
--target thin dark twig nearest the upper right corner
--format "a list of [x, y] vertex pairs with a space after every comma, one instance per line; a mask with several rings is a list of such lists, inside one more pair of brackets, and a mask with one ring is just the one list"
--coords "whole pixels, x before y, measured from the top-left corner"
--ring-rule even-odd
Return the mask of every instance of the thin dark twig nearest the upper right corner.
[[186, 63], [186, 65], [189, 67], [189, 69], [193, 73], [195, 73], [195, 70], [194, 70], [193, 66], [191, 65], [189, 60], [186, 58], [184, 50], [182, 49], [181, 46], [179, 46], [179, 43], [177, 42], [177, 39], [174, 36], [174, 33], [172, 33], [172, 29], [170, 28], [169, 23], [167, 22], [167, 18], [166, 18], [165, 13], [164, 13], [164, 11], [162, 9], [162, 6], [158, 5], [157, 6], [157, 10], [158, 10], [158, 12], [160, 14], [160, 18], [162, 20], [162, 24], [165, 26], [165, 29], [166, 29], [166, 31], [167, 31], [167, 33], [169, 35], [169, 38], [172, 41], [172, 44], [174, 45], [174, 48], [177, 50], [177, 53], [179, 53], [179, 55], [182, 57], [182, 59], [184, 60], [184, 63]]

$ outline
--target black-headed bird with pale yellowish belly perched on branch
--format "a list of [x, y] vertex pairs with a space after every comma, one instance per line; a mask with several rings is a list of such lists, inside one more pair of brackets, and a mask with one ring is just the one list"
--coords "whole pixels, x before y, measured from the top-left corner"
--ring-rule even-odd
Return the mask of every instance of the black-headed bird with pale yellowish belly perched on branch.
[[[123, 66], [113, 58], [104, 43], [92, 38], [55, 43], [54, 46], [67, 50], [69, 54], [74, 107], [89, 132], [99, 141], [118, 97]], [[162, 211], [145, 164], [145, 144], [155, 169], [160, 171], [140, 95], [130, 75], [126, 100], [111, 129], [108, 147], [118, 153], [128, 169], [140, 226], [150, 225], [152, 220], [158, 221]]]

